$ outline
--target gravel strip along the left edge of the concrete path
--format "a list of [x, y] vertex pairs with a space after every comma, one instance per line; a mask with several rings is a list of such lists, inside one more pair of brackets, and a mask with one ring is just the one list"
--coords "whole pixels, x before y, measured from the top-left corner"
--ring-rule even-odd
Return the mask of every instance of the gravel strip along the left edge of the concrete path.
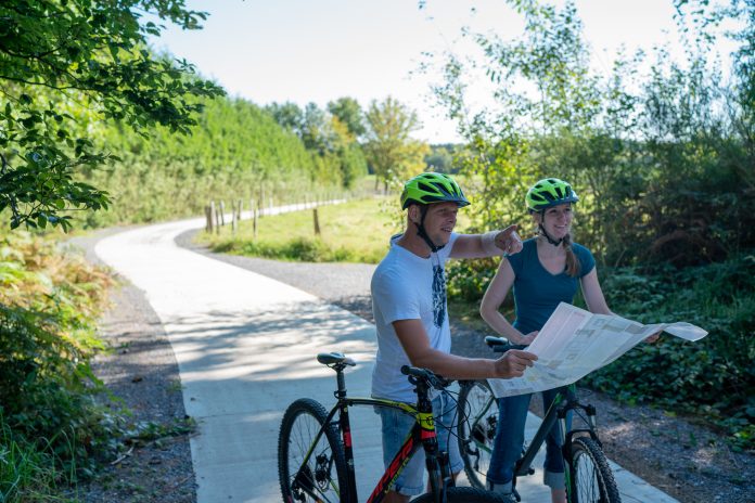
[[[90, 262], [102, 266], [94, 245], [117, 231], [72, 242]], [[185, 428], [191, 420], [183, 409], [178, 363], [144, 293], [120, 279], [100, 320], [100, 332], [107, 351], [98, 354], [92, 370], [116, 397], [116, 402], [108, 403], [128, 409], [132, 427], [152, 424], [149, 430], [153, 434], [131, 442], [126, 453], [71, 495], [86, 503], [195, 503], [191, 428]]]

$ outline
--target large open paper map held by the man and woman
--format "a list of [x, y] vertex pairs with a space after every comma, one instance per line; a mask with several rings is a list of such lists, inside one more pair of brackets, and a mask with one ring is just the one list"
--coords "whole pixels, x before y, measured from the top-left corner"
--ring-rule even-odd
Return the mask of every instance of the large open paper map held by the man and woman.
[[511, 397], [566, 386], [607, 365], [652, 334], [665, 331], [687, 340], [707, 332], [690, 323], [643, 325], [617, 315], [592, 314], [561, 302], [527, 351], [535, 365], [522, 377], [488, 379], [496, 397]]

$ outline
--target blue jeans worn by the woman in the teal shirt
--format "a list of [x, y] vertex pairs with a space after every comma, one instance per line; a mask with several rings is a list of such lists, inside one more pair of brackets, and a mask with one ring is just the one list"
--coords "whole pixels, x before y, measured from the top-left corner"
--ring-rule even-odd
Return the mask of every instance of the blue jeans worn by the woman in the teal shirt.
[[[565, 388], [542, 391], [543, 410], [553, 402], [555, 395]], [[514, 465], [522, 456], [524, 447], [524, 424], [532, 395], [517, 395], [498, 399], [498, 425], [492, 446], [490, 467], [487, 478], [496, 485], [508, 485], [514, 478]], [[567, 424], [570, 423], [567, 418]], [[568, 426], [567, 426], [568, 427]], [[564, 463], [561, 456], [559, 422], [553, 425], [546, 437], [546, 470], [543, 483], [551, 489], [564, 489]]]

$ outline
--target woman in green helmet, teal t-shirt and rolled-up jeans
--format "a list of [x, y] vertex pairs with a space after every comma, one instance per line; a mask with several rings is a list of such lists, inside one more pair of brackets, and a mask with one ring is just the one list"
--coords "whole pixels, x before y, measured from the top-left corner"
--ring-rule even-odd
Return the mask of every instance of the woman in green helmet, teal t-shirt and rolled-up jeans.
[[[592, 254], [572, 242], [572, 206], [578, 201], [572, 185], [558, 178], [540, 180], [527, 192], [527, 209], [538, 235], [525, 241], [522, 252], [501, 260], [479, 309], [483, 319], [513, 344], [530, 344], [559, 302], [573, 301], [578, 285], [591, 312], [612, 314], [598, 282]], [[516, 306], [513, 324], [499, 312], [512, 286]], [[546, 410], [559, 391], [542, 392]], [[513, 469], [524, 444], [530, 398], [532, 395], [520, 395], [499, 400], [498, 429], [487, 473], [488, 486], [496, 492], [513, 491]], [[556, 428], [558, 423], [546, 440], [543, 481], [551, 488], [553, 503], [562, 503], [566, 501], [566, 491]]]

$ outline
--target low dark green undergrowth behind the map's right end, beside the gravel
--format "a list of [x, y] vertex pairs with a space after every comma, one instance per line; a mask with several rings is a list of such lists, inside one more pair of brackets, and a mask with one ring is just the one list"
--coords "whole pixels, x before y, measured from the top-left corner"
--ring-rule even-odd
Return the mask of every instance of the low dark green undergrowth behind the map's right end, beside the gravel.
[[629, 401], [694, 413], [719, 425], [739, 448], [755, 447], [755, 257], [640, 275], [610, 271], [603, 281], [616, 312], [644, 323], [684, 320], [709, 334], [696, 343], [665, 336], [585, 381]]

